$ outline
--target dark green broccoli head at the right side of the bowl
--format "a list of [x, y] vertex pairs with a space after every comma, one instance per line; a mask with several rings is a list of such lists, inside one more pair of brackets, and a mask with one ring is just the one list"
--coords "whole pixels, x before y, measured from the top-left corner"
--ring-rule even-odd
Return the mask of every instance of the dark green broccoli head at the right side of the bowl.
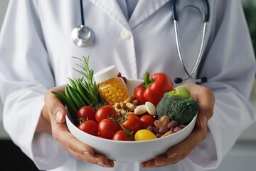
[[171, 92], [165, 93], [161, 101], [156, 105], [156, 115], [159, 118], [167, 115], [170, 120], [176, 120], [179, 124], [190, 123], [199, 111], [198, 103], [193, 98], [187, 98]]

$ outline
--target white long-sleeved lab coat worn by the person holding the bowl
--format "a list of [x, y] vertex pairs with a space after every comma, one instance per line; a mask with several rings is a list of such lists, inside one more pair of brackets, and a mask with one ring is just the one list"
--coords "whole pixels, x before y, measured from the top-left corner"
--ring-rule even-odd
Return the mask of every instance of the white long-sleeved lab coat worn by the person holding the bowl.
[[[178, 9], [189, 1], [180, 1]], [[191, 4], [202, 6], [198, 1]], [[72, 68], [90, 54], [90, 68], [116, 65], [127, 78], [144, 72], [186, 77], [176, 50], [171, 1], [141, 0], [129, 22], [117, 1], [84, 1], [85, 24], [95, 32], [95, 43], [79, 48], [70, 32], [80, 25], [79, 1], [10, 1], [0, 36], [0, 93], [4, 128], [41, 170], [143, 170], [139, 163], [115, 163], [113, 169], [75, 159], [50, 134], [35, 135], [43, 95], [53, 86], [79, 77]], [[193, 9], [180, 15], [184, 60], [194, 66], [203, 26]], [[210, 0], [210, 23], [201, 76], [215, 93], [210, 132], [193, 152], [176, 165], [151, 170], [207, 170], [220, 165], [225, 154], [254, 117], [248, 101], [255, 78], [255, 57], [239, 0]]]

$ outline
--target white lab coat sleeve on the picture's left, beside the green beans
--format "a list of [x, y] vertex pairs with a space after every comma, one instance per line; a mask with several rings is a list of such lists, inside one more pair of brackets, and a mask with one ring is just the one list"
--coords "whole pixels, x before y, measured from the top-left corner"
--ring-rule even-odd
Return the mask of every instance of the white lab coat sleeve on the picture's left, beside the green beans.
[[35, 135], [44, 93], [55, 86], [36, 6], [36, 1], [9, 1], [0, 35], [0, 93], [4, 129], [38, 168], [47, 170], [62, 165], [68, 152], [51, 134]]

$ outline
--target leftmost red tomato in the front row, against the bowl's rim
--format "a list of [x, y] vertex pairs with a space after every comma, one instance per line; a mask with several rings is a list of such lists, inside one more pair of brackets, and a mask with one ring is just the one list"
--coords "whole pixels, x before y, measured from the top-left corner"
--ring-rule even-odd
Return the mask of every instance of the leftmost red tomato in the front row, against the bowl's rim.
[[83, 123], [80, 123], [78, 125], [78, 128], [85, 133], [88, 133], [90, 135], [97, 136], [99, 134], [98, 132], [98, 124], [94, 120], [87, 120]]

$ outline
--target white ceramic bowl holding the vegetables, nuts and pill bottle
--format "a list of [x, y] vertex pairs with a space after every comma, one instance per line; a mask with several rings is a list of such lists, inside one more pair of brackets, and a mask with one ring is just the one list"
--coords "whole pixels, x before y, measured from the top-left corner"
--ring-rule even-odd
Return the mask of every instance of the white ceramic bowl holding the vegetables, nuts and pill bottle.
[[[141, 80], [127, 80], [127, 87], [131, 95], [133, 94], [134, 87], [141, 82]], [[145, 141], [117, 141], [98, 138], [78, 129], [70, 120], [71, 116], [69, 114], [66, 115], [66, 123], [70, 133], [72, 133], [75, 138], [93, 147], [95, 152], [106, 155], [110, 160], [119, 162], [142, 162], [153, 159], [157, 155], [164, 154], [169, 147], [186, 139], [196, 124], [196, 118], [197, 115], [193, 118], [191, 123], [178, 131], [178, 133], [164, 138]]]

